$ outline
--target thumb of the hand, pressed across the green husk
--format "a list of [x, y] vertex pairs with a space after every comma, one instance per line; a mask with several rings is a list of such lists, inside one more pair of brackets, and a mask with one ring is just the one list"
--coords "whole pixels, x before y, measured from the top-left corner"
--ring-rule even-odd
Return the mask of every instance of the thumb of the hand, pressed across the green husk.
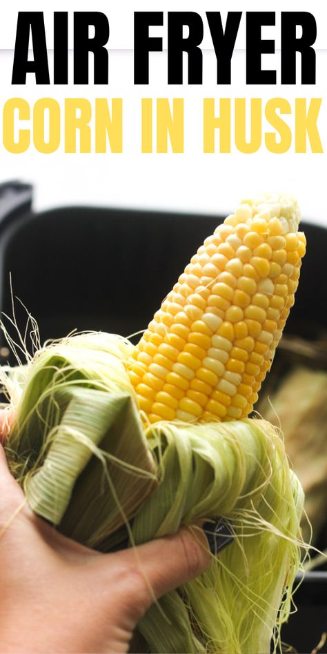
[[175, 535], [155, 539], [114, 556], [120, 557], [130, 571], [137, 572], [130, 575], [133, 583], [129, 591], [143, 599], [144, 611], [156, 598], [194, 579], [210, 564], [207, 539], [197, 527], [181, 528]]

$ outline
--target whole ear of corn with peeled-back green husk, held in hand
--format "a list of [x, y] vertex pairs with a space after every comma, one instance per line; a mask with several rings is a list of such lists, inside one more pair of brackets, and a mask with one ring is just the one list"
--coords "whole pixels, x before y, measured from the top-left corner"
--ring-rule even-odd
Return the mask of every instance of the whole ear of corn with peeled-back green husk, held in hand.
[[[139, 623], [153, 653], [280, 643], [303, 493], [279, 433], [235, 418], [251, 410], [294, 301], [298, 222], [290, 199], [244, 203], [199, 248], [137, 348], [86, 333], [41, 348], [13, 379], [3, 372], [10, 468], [59, 531], [111, 551], [128, 535], [141, 544], [217, 516], [232, 528], [235, 543], [208, 571]], [[154, 423], [146, 430], [137, 397]]]

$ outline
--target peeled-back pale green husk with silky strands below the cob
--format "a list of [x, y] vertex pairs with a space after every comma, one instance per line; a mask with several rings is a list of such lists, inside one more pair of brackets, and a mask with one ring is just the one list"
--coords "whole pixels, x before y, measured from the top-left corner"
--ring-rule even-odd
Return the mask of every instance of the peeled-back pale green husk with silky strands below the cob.
[[21, 390], [10, 468], [36, 513], [102, 551], [223, 517], [235, 542], [153, 604], [139, 629], [152, 652], [262, 654], [272, 637], [276, 651], [302, 544], [303, 493], [284, 444], [257, 419], [144, 432], [126, 372], [131, 348], [79, 335], [40, 350], [25, 379], [13, 371], [6, 386]]

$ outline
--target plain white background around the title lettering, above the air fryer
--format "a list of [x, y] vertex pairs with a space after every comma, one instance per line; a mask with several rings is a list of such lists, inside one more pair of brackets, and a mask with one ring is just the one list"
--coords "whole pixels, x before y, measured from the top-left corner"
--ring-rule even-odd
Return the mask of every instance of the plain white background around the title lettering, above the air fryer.
[[[244, 7], [244, 4], [246, 5]], [[281, 191], [296, 195], [306, 220], [327, 226], [326, 154], [295, 154], [293, 148], [284, 155], [273, 155], [264, 146], [254, 155], [244, 155], [235, 149], [231, 154], [204, 155], [202, 146], [202, 101], [204, 97], [285, 97], [294, 106], [295, 97], [322, 97], [319, 133], [327, 147], [326, 79], [327, 79], [327, 12], [318, 0], [266, 2], [264, 10], [277, 12], [275, 28], [266, 28], [265, 38], [275, 38], [279, 46], [280, 10], [306, 10], [317, 20], [317, 84], [315, 86], [246, 86], [244, 26], [241, 19], [236, 50], [232, 61], [232, 86], [217, 86], [216, 59], [210, 50], [210, 33], [206, 26], [206, 10], [262, 10], [263, 3], [255, 0], [216, 2], [206, 0], [175, 0], [135, 2], [93, 0], [13, 1], [10, 8], [0, 9], [0, 88], [1, 112], [6, 99], [24, 97], [32, 104], [39, 97], [54, 97], [63, 106], [65, 97], [123, 98], [123, 154], [67, 155], [63, 148], [53, 155], [41, 155], [33, 148], [23, 155], [10, 155], [0, 140], [0, 181], [22, 179], [35, 186], [37, 209], [67, 204], [130, 206], [204, 213], [230, 212], [242, 197], [258, 192]], [[204, 19], [204, 84], [202, 86], [168, 86], [166, 53], [150, 54], [149, 86], [133, 84], [133, 12], [135, 10], [193, 10]], [[41, 88], [29, 79], [27, 86], [11, 85], [14, 38], [18, 10], [45, 12], [48, 47], [52, 46], [52, 12], [54, 10], [99, 10], [110, 21], [110, 83], [108, 86], [50, 86]], [[70, 15], [70, 18], [72, 14]], [[72, 22], [72, 21], [71, 21]], [[164, 34], [156, 28], [154, 34]], [[159, 30], [159, 31], [158, 31]], [[70, 41], [72, 45], [72, 37]], [[72, 59], [72, 53], [70, 53]], [[263, 58], [265, 68], [279, 68], [279, 51]], [[52, 53], [49, 53], [50, 77]], [[28, 76], [32, 77], [32, 76]], [[298, 82], [300, 80], [298, 79]], [[183, 155], [141, 154], [141, 97], [184, 97], [185, 150]], [[292, 119], [289, 122], [293, 125]]]

